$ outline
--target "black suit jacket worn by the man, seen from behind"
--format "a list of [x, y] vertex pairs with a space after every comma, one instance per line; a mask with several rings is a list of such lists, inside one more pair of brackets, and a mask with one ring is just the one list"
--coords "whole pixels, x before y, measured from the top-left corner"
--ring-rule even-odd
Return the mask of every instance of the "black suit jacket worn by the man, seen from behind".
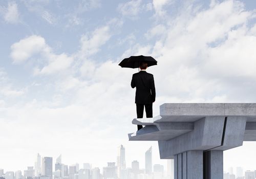
[[154, 76], [146, 71], [133, 74], [132, 88], [136, 87], [135, 103], [151, 104], [156, 99]]

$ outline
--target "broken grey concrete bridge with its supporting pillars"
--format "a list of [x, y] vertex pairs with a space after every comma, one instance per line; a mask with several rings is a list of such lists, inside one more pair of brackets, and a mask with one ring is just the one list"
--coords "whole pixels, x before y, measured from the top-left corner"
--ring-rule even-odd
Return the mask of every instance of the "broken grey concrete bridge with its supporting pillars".
[[223, 179], [223, 151], [256, 141], [256, 103], [166, 103], [130, 141], [158, 141], [175, 179]]

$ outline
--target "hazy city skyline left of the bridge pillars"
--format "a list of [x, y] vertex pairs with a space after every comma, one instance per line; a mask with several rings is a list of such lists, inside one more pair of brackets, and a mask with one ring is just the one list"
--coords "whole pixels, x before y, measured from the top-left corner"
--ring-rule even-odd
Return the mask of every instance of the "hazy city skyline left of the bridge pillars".
[[[150, 154], [150, 155], [148, 155]], [[152, 165], [152, 147], [145, 152], [145, 164], [148, 163], [147, 158], [150, 157], [151, 162], [151, 173], [145, 172], [145, 169], [139, 165], [137, 160], [131, 163], [131, 167], [126, 167], [125, 165], [125, 148], [120, 145], [117, 149], [117, 158], [115, 162], [107, 162], [108, 166], [99, 169], [97, 166], [92, 166], [90, 163], [83, 163], [80, 167], [79, 163], [72, 165], [66, 165], [62, 163], [62, 154], [56, 157], [56, 162], [53, 163], [53, 157], [51, 156], [41, 156], [37, 153], [36, 162], [34, 166], [28, 166], [27, 170], [22, 172], [21, 170], [15, 171], [5, 171], [0, 169], [0, 176], [4, 176], [5, 179], [22, 179], [22, 178], [34, 178], [39, 177], [41, 179], [52, 179], [52, 178], [65, 178], [65, 179], [99, 179], [99, 178], [137, 178], [143, 170], [145, 176], [156, 176], [162, 178], [164, 175], [164, 166], [160, 164]], [[41, 161], [41, 163], [39, 163]], [[140, 167], [139, 167], [140, 166]], [[148, 168], [148, 164], [144, 168]], [[159, 167], [161, 168], [159, 170]], [[101, 172], [100, 172], [101, 171]], [[132, 174], [130, 174], [132, 172]], [[15, 174], [14, 174], [15, 173]], [[23, 173], [23, 174], [22, 174]], [[161, 174], [160, 174], [161, 173]], [[100, 177], [102, 175], [102, 177]], [[130, 176], [131, 175], [131, 176]], [[48, 178], [49, 177], [49, 178]], [[78, 177], [78, 178], [77, 178]], [[155, 177], [156, 178], [156, 177]], [[37, 178], [38, 179], [38, 178]]]

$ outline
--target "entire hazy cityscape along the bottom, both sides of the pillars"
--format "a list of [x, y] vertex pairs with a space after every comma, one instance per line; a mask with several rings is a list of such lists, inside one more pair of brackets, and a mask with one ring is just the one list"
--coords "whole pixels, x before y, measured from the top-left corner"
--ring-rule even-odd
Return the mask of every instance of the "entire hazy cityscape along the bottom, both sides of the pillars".
[[[57, 157], [55, 163], [49, 156], [36, 156], [34, 166], [28, 166], [23, 172], [4, 171], [0, 168], [0, 179], [162, 179], [174, 178], [174, 160], [166, 160], [167, 167], [153, 164], [152, 147], [145, 151], [145, 166], [135, 160], [132, 167], [126, 167], [125, 148], [123, 145], [118, 147], [117, 158], [115, 162], [107, 162], [102, 170], [98, 167], [92, 167], [90, 163], [78, 163], [66, 165], [62, 163], [61, 154]], [[227, 172], [224, 171], [224, 179], [254, 179], [255, 171], [244, 171], [242, 167], [230, 167]]]

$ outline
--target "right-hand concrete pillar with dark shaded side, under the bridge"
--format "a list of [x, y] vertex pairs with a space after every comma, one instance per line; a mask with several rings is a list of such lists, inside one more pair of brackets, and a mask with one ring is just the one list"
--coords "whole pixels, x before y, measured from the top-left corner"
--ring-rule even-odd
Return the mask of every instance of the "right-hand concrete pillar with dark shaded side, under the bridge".
[[223, 179], [223, 151], [210, 150], [203, 154], [204, 179]]

